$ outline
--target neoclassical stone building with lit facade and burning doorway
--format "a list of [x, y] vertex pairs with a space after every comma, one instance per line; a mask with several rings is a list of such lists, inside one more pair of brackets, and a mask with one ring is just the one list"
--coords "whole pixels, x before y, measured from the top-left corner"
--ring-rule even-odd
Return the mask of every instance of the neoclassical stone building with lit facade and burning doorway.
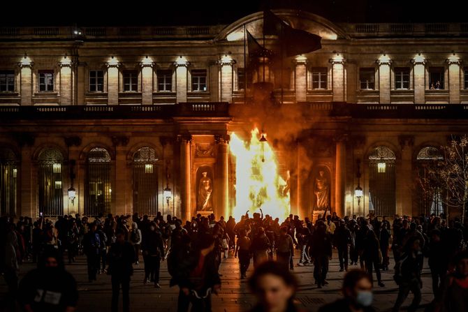
[[[206, 27], [1, 28], [1, 214], [227, 217], [241, 205], [232, 138], [255, 127], [293, 214], [460, 214], [416, 177], [467, 133], [468, 24], [274, 13], [321, 36], [321, 50], [246, 70], [244, 29], [263, 44], [263, 13]], [[258, 100], [258, 82], [272, 99]]]

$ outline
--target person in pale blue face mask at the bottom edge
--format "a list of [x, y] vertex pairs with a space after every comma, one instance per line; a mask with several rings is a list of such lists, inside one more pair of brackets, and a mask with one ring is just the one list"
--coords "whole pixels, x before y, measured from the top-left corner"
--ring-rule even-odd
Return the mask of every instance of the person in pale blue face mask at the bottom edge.
[[372, 281], [366, 272], [353, 269], [343, 279], [343, 299], [326, 304], [319, 312], [373, 312]]

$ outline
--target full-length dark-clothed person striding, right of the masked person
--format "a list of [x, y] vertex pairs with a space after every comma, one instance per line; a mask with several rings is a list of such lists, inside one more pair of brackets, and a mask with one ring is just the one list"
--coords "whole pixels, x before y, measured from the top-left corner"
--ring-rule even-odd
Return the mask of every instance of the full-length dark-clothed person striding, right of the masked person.
[[405, 299], [407, 299], [409, 292], [413, 292], [413, 302], [408, 308], [408, 311], [416, 311], [419, 303], [421, 302], [421, 272], [419, 269], [419, 239], [411, 237], [404, 246], [404, 253], [402, 253], [400, 260], [395, 265], [395, 282], [400, 286], [398, 289], [398, 296], [393, 306], [393, 311], [400, 311]]

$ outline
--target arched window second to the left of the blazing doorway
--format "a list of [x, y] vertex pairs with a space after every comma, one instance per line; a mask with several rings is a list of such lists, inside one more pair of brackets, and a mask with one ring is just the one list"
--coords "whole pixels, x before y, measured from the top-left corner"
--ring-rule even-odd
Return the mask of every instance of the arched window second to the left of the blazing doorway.
[[107, 149], [95, 147], [88, 153], [85, 190], [85, 214], [110, 213], [112, 183], [110, 155]]

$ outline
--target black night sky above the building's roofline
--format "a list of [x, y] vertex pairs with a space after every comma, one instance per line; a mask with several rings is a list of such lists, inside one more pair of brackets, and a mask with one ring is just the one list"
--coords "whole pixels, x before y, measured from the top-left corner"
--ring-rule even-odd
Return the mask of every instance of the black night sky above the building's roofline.
[[22, 3], [20, 9], [1, 10], [0, 25], [229, 24], [265, 6], [307, 10], [332, 22], [468, 22], [467, 13], [462, 9], [464, 2], [466, 0], [36, 0]]

